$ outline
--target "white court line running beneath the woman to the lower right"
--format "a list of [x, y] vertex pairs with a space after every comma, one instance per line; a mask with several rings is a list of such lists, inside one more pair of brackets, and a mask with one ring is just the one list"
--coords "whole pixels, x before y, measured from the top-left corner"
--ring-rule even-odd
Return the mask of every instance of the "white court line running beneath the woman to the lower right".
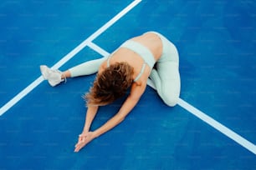
[[[106, 52], [104, 49], [102, 49], [101, 47], [97, 46], [93, 42], [90, 43], [89, 47], [92, 48], [93, 50], [95, 50], [95, 52], [100, 53], [102, 56], [110, 55], [109, 52]], [[148, 81], [147, 84], [150, 87], [156, 89], [156, 87], [153, 84], [153, 82]], [[183, 107], [184, 109], [186, 109], [188, 112], [191, 112], [196, 117], [200, 118], [203, 122], [207, 122], [207, 124], [212, 126], [212, 128], [217, 129], [220, 133], [223, 133], [228, 138], [233, 139], [233, 141], [235, 141], [236, 143], [238, 143], [241, 146], [243, 146], [243, 148], [247, 148], [248, 151], [256, 154], [256, 146], [253, 143], [249, 142], [247, 139], [245, 139], [245, 138], [241, 137], [240, 135], [238, 135], [238, 133], [234, 133], [232, 130], [230, 130], [229, 128], [225, 127], [220, 122], [217, 122], [212, 117], [207, 116], [206, 113], [201, 112], [196, 107], [193, 107], [191, 104], [189, 104], [189, 103], [185, 102], [184, 100], [182, 100], [182, 98], [179, 98], [177, 104], [179, 106]]]

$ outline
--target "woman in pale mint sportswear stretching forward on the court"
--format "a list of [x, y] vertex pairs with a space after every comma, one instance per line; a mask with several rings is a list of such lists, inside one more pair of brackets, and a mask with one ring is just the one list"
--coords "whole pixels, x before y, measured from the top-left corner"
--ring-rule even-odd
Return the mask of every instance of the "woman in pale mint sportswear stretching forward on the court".
[[[40, 66], [40, 69], [53, 87], [66, 81], [68, 77], [98, 72], [93, 87], [85, 95], [88, 109], [84, 130], [74, 148], [74, 152], [79, 152], [91, 140], [125, 119], [145, 91], [148, 78], [154, 83], [163, 102], [168, 106], [175, 106], [181, 88], [178, 67], [178, 52], [172, 42], [158, 32], [146, 32], [121, 44], [109, 57], [84, 62], [65, 72], [51, 70], [47, 66]], [[129, 87], [131, 92], [119, 112], [103, 126], [90, 132], [90, 125], [98, 107], [123, 96]]]

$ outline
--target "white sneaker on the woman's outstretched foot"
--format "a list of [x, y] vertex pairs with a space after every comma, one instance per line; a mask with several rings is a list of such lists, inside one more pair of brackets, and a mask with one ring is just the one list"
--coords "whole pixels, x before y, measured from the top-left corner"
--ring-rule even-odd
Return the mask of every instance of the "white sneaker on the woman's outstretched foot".
[[49, 84], [54, 87], [58, 85], [60, 82], [66, 82], [66, 78], [62, 79], [62, 72], [59, 70], [52, 70], [45, 65], [40, 66], [41, 73], [45, 80], [48, 80]]

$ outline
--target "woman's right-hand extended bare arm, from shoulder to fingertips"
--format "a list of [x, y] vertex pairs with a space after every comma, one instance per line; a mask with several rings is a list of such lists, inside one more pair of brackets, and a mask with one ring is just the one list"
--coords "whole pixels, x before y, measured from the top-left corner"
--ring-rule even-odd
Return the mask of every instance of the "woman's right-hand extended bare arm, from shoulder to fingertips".
[[103, 133], [108, 132], [111, 128], [114, 128], [116, 125], [122, 122], [126, 115], [131, 112], [132, 108], [136, 106], [136, 103], [140, 100], [141, 95], [145, 89], [146, 84], [138, 86], [136, 83], [134, 83], [131, 87], [131, 94], [126, 98], [124, 104], [122, 107], [120, 107], [119, 112], [117, 112], [114, 117], [110, 118], [108, 122], [105, 122], [103, 126], [96, 129], [94, 132], [87, 133], [82, 142], [75, 146], [74, 151], [79, 152], [79, 150], [83, 148], [87, 143], [90, 143], [91, 140], [99, 137]]

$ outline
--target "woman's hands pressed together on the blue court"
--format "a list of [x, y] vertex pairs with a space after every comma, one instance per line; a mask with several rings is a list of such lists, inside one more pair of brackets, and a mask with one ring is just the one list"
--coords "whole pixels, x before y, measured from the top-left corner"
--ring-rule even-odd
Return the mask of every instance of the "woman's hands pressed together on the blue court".
[[74, 152], [78, 153], [81, 148], [84, 148], [84, 146], [87, 143], [90, 143], [95, 138], [95, 133], [88, 132], [88, 133], [82, 133], [79, 135], [78, 143], [74, 146]]

